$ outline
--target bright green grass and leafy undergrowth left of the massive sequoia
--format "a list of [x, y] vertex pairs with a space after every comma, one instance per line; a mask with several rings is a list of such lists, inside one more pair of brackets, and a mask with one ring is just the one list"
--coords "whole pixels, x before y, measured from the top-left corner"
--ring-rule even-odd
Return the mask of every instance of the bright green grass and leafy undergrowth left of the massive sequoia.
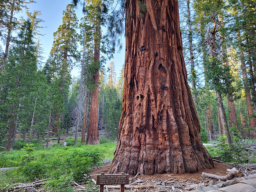
[[65, 188], [65, 192], [73, 191], [70, 183], [84, 180], [84, 174], [102, 163], [103, 159], [110, 159], [116, 147], [116, 143], [106, 140], [95, 146], [81, 144], [81, 139], [76, 146], [73, 138], [66, 142], [66, 147], [54, 144], [50, 149], [43, 149], [40, 144], [24, 147], [23, 143], [23, 150], [0, 155], [0, 168], [18, 167], [0, 171], [0, 188], [7, 184], [48, 179], [46, 187], [50, 191], [61, 192], [62, 188]]

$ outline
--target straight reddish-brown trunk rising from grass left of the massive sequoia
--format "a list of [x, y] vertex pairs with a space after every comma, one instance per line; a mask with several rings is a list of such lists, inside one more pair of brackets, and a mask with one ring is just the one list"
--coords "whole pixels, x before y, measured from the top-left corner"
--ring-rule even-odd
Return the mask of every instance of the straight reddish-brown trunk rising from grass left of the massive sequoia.
[[[97, 20], [96, 25], [96, 37], [94, 39], [94, 63], [97, 68], [99, 68], [100, 62], [100, 40], [101, 40], [101, 31], [100, 31], [100, 21]], [[99, 106], [99, 69], [93, 75], [93, 81], [95, 88], [92, 91], [91, 99], [91, 111], [90, 111], [90, 120], [87, 132], [86, 144], [97, 145], [99, 142], [99, 129], [98, 129], [98, 106]]]

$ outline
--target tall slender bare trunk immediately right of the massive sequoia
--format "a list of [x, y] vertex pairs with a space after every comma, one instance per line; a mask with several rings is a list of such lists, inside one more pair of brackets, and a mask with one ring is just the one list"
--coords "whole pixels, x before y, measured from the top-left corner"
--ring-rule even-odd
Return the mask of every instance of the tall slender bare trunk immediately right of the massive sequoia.
[[193, 52], [193, 41], [192, 41], [192, 28], [191, 28], [191, 18], [190, 18], [190, 0], [187, 1], [187, 14], [188, 14], [188, 40], [189, 40], [189, 52], [190, 52], [190, 66], [191, 66], [191, 80], [192, 80], [192, 90], [193, 90], [193, 100], [194, 102], [197, 102], [196, 98], [196, 71], [195, 71], [195, 65], [194, 65], [194, 52]]

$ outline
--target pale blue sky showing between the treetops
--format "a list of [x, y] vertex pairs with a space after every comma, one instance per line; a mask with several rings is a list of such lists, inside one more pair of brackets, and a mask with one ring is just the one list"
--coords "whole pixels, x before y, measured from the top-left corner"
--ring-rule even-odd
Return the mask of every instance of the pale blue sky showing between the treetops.
[[[67, 4], [70, 4], [71, 0], [36, 0], [34, 4], [28, 4], [29, 12], [41, 11], [42, 15], [40, 19], [44, 20], [44, 23], [41, 23], [41, 26], [45, 27], [40, 29], [40, 33], [44, 34], [44, 36], [40, 36], [41, 46], [44, 48], [44, 57], [45, 60], [48, 58], [48, 55], [52, 48], [53, 42], [53, 33], [57, 31], [57, 28], [62, 24], [62, 12], [66, 9]], [[15, 17], [23, 16], [26, 18], [26, 13], [23, 11], [22, 13], [16, 14]], [[80, 20], [83, 17], [82, 9], [78, 6], [76, 9], [76, 16]], [[104, 34], [104, 31], [102, 31]], [[12, 34], [15, 36], [15, 34]], [[123, 46], [125, 46], [125, 40], [123, 38]], [[5, 46], [2, 44], [2, 49], [5, 49]], [[124, 47], [120, 53], [115, 53], [114, 58], [108, 60], [105, 64], [105, 67], [109, 66], [109, 63], [114, 61], [116, 67], [116, 74], [119, 75], [121, 70], [121, 66], [124, 63]], [[80, 69], [75, 67], [71, 72], [73, 76], [80, 76]]]

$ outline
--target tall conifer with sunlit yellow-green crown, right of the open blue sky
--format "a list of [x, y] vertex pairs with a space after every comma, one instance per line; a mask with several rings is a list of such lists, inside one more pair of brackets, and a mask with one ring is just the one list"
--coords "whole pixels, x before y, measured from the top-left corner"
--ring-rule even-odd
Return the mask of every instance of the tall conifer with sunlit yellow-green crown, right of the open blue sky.
[[[74, 5], [68, 4], [65, 11], [63, 11], [62, 25], [53, 33], [54, 41], [51, 49], [51, 57], [54, 62], [56, 76], [58, 77], [61, 97], [64, 100], [64, 106], [68, 102], [68, 89], [70, 85], [70, 72], [73, 68], [73, 60], [78, 61], [80, 54], [77, 51], [78, 34], [76, 28], [78, 27], [78, 19], [74, 11]], [[55, 122], [61, 122], [60, 115], [64, 112], [64, 108], [55, 115]], [[60, 126], [56, 124], [53, 131], [59, 132]], [[59, 134], [58, 134], [59, 138]]]

